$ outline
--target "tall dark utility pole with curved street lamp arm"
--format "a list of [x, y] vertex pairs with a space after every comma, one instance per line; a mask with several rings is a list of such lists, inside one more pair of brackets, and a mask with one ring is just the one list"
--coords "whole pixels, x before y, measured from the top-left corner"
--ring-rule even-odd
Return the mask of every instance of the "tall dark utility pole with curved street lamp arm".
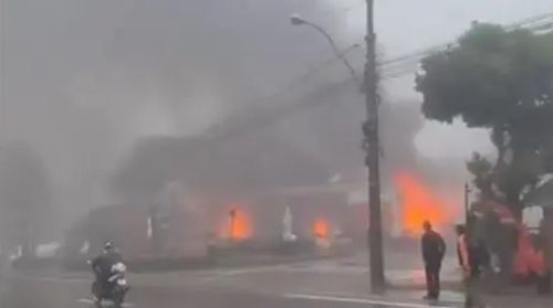
[[364, 93], [366, 104], [366, 121], [363, 125], [365, 136], [364, 148], [366, 151], [365, 164], [368, 168], [368, 248], [371, 256], [371, 289], [373, 293], [383, 293], [384, 279], [384, 255], [382, 234], [382, 209], [380, 209], [380, 170], [378, 140], [378, 94], [376, 74], [376, 34], [374, 30], [374, 0], [367, 3], [367, 33], [366, 33], [366, 64]]

